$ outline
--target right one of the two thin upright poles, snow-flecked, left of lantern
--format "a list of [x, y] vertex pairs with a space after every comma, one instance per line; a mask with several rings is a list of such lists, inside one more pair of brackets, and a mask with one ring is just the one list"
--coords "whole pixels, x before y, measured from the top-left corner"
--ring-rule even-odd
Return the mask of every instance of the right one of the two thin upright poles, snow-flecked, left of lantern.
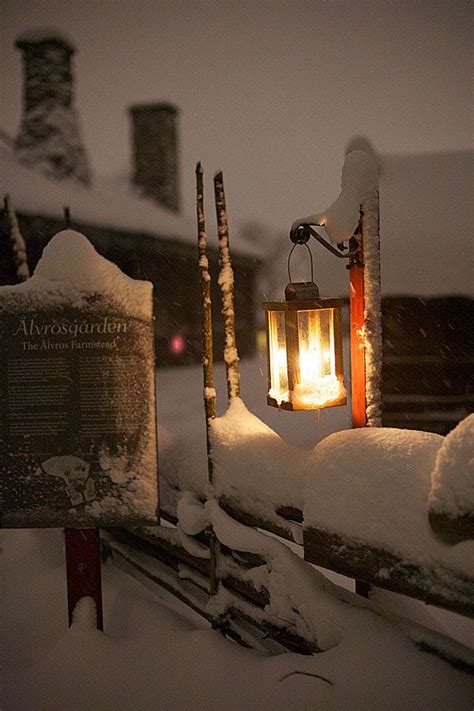
[[235, 340], [234, 311], [234, 270], [229, 249], [229, 225], [225, 204], [224, 179], [222, 171], [214, 176], [214, 196], [216, 201], [217, 233], [219, 237], [219, 278], [224, 315], [224, 362], [227, 374], [227, 395], [229, 401], [240, 396], [239, 354]]

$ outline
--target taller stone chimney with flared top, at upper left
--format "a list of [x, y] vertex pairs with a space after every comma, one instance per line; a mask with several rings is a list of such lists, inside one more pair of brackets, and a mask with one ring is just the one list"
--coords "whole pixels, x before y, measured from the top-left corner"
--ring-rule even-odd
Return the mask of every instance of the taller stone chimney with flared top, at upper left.
[[27, 32], [23, 52], [23, 114], [15, 140], [22, 163], [48, 176], [90, 182], [86, 151], [74, 108], [72, 44], [56, 30]]

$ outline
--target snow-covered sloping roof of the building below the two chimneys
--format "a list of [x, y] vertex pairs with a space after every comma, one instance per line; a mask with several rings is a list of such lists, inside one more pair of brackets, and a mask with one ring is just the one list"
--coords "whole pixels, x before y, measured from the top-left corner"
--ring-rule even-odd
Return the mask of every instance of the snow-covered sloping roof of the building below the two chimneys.
[[[96, 179], [86, 187], [73, 180], [57, 181], [21, 164], [13, 150], [0, 145], [0, 190], [9, 193], [17, 212], [63, 218], [68, 205], [73, 222], [144, 232], [155, 237], [197, 244], [196, 219], [176, 215], [146, 199], [126, 179]], [[239, 243], [232, 232], [236, 254], [261, 257], [250, 242]]]

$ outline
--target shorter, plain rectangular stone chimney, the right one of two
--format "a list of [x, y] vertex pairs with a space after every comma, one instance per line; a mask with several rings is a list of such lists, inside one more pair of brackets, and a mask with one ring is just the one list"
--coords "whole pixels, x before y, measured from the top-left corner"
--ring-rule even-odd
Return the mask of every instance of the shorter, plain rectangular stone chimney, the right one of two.
[[131, 106], [133, 182], [143, 195], [178, 212], [178, 110], [171, 104]]

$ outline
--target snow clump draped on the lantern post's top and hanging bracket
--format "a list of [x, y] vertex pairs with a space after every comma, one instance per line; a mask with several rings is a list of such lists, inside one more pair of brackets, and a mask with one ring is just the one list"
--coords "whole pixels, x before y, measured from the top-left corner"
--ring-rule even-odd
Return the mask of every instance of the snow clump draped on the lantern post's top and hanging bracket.
[[376, 195], [378, 169], [374, 157], [361, 150], [350, 151], [342, 167], [341, 192], [326, 210], [295, 220], [292, 229], [308, 223], [324, 226], [331, 242], [346, 242], [354, 234], [360, 206]]

